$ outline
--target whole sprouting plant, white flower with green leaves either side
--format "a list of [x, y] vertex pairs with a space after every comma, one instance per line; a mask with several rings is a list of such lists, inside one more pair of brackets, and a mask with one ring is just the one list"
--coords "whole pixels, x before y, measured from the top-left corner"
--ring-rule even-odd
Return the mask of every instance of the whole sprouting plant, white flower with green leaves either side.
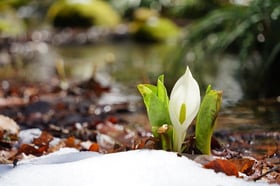
[[152, 132], [164, 150], [183, 152], [187, 129], [198, 113], [195, 140], [200, 152], [209, 154], [211, 136], [221, 104], [221, 92], [208, 88], [200, 105], [200, 90], [189, 68], [175, 83], [170, 100], [164, 86], [164, 78], [158, 78], [157, 86], [139, 84], [138, 90], [152, 125]]

